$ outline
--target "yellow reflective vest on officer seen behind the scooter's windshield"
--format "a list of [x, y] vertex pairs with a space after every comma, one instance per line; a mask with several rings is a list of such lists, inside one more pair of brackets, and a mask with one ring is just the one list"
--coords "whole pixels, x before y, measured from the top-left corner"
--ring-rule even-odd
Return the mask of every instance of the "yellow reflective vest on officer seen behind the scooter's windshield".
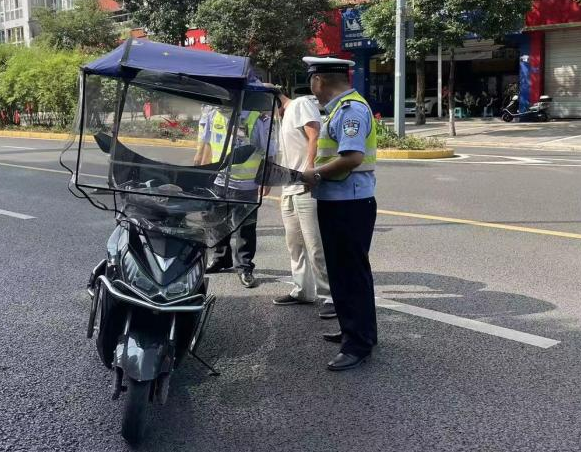
[[[259, 112], [250, 112], [248, 117], [241, 123], [239, 132], [242, 136], [238, 136], [237, 134], [233, 137], [233, 139], [236, 140], [235, 147], [250, 144], [250, 137], [252, 137], [252, 132], [256, 126], [256, 121], [258, 121], [259, 118]], [[227, 132], [228, 120], [222, 113], [217, 111], [212, 118], [212, 130], [210, 136], [212, 163], [219, 162], [220, 157], [222, 157], [222, 150], [224, 149], [224, 141], [226, 139]], [[244, 163], [232, 165], [230, 177], [236, 180], [253, 180], [256, 177], [256, 173], [258, 173], [263, 153], [264, 150], [258, 149]]]

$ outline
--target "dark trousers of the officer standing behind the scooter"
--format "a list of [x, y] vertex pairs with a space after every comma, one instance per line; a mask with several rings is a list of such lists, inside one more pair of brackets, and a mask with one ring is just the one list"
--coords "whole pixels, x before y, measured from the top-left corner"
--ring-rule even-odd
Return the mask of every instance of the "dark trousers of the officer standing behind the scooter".
[[[228, 189], [228, 198], [240, 201], [255, 203], [258, 197], [258, 190], [234, 190]], [[225, 267], [234, 265], [239, 271], [254, 270], [254, 255], [256, 254], [256, 222], [258, 219], [258, 209], [249, 215], [244, 224], [231, 236], [228, 236], [216, 245], [214, 249], [214, 260], [221, 262]], [[230, 238], [236, 240], [236, 248], [232, 253]], [[234, 261], [232, 261], [234, 256]]]

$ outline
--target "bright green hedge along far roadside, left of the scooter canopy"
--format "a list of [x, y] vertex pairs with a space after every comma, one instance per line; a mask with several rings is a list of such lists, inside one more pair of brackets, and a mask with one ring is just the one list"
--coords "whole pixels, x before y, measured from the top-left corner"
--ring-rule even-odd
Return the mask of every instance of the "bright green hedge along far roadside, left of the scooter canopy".
[[1, 45], [0, 127], [70, 126], [77, 108], [79, 67], [90, 58], [77, 52]]

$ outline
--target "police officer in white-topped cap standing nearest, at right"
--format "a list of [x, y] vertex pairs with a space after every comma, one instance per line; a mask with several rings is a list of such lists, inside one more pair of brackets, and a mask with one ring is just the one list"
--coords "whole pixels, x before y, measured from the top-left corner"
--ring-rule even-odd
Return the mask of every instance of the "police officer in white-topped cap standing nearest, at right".
[[327, 365], [360, 365], [377, 344], [377, 321], [369, 248], [377, 215], [376, 128], [366, 100], [349, 84], [355, 63], [305, 57], [311, 90], [328, 114], [321, 128], [315, 168], [303, 173], [317, 199], [331, 295], [341, 331], [323, 338], [341, 343]]

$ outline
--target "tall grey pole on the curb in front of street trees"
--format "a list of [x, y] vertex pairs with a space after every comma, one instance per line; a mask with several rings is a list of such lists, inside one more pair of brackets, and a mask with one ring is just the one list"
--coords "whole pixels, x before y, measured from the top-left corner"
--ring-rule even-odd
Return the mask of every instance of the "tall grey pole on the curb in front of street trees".
[[395, 133], [405, 136], [405, 2], [397, 0], [395, 19]]

